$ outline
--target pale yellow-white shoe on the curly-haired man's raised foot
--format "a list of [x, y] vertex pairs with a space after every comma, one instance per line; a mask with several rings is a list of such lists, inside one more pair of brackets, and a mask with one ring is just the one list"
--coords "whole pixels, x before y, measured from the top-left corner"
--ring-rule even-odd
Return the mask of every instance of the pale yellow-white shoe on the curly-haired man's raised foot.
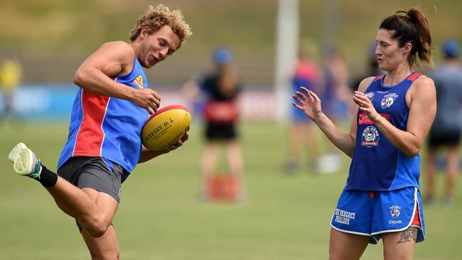
[[19, 175], [40, 178], [42, 172], [41, 161], [24, 143], [16, 144], [9, 153], [8, 158], [14, 163], [14, 171]]

